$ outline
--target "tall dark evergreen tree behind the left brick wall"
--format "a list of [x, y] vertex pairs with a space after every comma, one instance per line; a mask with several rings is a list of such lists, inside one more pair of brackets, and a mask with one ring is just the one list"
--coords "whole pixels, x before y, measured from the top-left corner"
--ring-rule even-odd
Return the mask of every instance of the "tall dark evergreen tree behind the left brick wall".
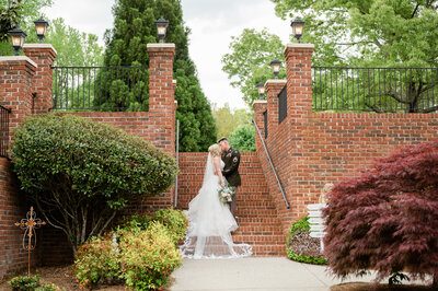
[[[147, 44], [158, 42], [155, 21], [161, 16], [169, 21], [166, 42], [176, 46], [173, 68], [177, 81], [175, 98], [178, 102], [176, 118], [180, 119], [180, 150], [207, 150], [216, 140], [217, 129], [210, 104], [196, 75], [196, 67], [188, 56], [189, 28], [183, 22], [181, 1], [117, 0], [113, 13], [114, 28], [105, 33], [105, 66], [149, 66]], [[139, 73], [145, 74], [142, 70]], [[118, 75], [116, 80], [112, 79], [105, 90], [116, 91], [116, 102], [123, 107], [143, 109], [148, 106], [148, 84], [138, 80], [145, 80], [145, 75], [136, 80], [129, 78], [132, 77], [125, 75], [123, 80]], [[112, 92], [107, 92], [106, 96], [111, 97]], [[141, 92], [142, 100], [136, 98], [138, 92]]]

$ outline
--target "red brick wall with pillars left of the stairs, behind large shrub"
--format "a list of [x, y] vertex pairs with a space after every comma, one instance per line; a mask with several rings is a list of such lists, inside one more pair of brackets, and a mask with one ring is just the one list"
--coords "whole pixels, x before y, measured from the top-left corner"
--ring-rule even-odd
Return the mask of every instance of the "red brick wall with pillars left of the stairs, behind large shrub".
[[[44, 114], [51, 109], [53, 70], [50, 67], [57, 53], [49, 44], [27, 44], [23, 50], [26, 56], [0, 57], [0, 104], [12, 109], [10, 114], [11, 141], [14, 129], [27, 116]], [[172, 80], [172, 72], [175, 45], [149, 44], [148, 54], [150, 59], [149, 112], [74, 114], [95, 121], [112, 124], [150, 141], [157, 148], [174, 154], [176, 112], [174, 92], [176, 82]], [[0, 188], [0, 193], [2, 196], [0, 201], [4, 200], [12, 203], [21, 197], [16, 191], [18, 185], [9, 178], [12, 175], [9, 164], [1, 171], [2, 188]], [[16, 202], [14, 203], [16, 205]], [[158, 197], [131, 205], [126, 212], [150, 212], [172, 205], [173, 189], [170, 189]], [[4, 216], [8, 216], [4, 223], [10, 223], [9, 220], [12, 218], [25, 216], [25, 211], [12, 208], [7, 203], [0, 205], [0, 211], [4, 211]], [[2, 219], [4, 217], [0, 217], [0, 220]], [[5, 228], [4, 233], [8, 235], [0, 236], [0, 245], [4, 245], [3, 248], [0, 248], [3, 257], [0, 257], [0, 260], [11, 265], [1, 267], [0, 276], [7, 270], [23, 267], [21, 253], [10, 251], [12, 249], [11, 245], [13, 245], [11, 242], [21, 240], [20, 230], [13, 232], [9, 232], [9, 230], [10, 228]], [[71, 252], [68, 251], [67, 238], [61, 231], [45, 226], [41, 232], [43, 240], [39, 242], [39, 252], [44, 253], [44, 256], [38, 263], [53, 265], [71, 260]]]

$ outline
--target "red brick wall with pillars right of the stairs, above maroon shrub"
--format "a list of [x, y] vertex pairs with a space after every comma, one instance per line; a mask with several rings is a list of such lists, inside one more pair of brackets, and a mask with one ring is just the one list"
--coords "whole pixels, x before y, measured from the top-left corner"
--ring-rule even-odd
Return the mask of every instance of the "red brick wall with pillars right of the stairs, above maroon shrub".
[[[311, 58], [313, 45], [293, 44], [285, 50], [287, 60], [287, 118], [278, 125], [275, 115], [279, 86], [267, 82], [268, 137], [265, 140], [290, 209], [268, 164], [258, 136], [261, 159], [269, 193], [285, 231], [318, 202], [326, 183], [358, 176], [374, 158], [438, 138], [437, 114], [341, 114], [312, 113]], [[265, 108], [254, 104], [255, 120], [263, 127]], [[269, 117], [270, 116], [270, 117]], [[274, 124], [273, 124], [274, 123]]]

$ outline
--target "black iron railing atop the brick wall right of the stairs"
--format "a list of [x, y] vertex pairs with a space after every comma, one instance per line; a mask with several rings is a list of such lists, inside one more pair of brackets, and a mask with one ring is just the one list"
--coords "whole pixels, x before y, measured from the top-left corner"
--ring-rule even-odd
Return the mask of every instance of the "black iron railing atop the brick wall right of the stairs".
[[438, 68], [312, 68], [313, 110], [438, 110]]

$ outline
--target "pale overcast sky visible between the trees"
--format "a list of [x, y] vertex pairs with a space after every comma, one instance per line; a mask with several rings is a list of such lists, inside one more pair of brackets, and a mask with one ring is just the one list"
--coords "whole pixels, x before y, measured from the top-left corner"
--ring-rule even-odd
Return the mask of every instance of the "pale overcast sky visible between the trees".
[[[103, 34], [113, 27], [114, 0], [54, 0], [44, 12], [49, 19], [64, 18], [66, 23], [81, 32], [96, 34], [103, 46]], [[290, 22], [275, 15], [269, 0], [182, 0], [185, 24], [192, 30], [189, 55], [194, 60], [200, 85], [210, 103], [222, 107], [247, 108], [239, 89], [230, 85], [222, 72], [221, 58], [229, 53], [231, 36], [243, 28], [266, 27], [286, 45], [291, 34]]]

